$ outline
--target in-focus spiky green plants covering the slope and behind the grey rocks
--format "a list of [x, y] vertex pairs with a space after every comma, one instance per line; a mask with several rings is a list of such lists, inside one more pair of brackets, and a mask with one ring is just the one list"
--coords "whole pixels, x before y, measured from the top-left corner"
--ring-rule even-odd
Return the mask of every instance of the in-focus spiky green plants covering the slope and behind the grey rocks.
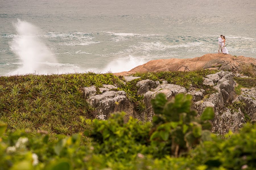
[[16, 75], [0, 77], [0, 120], [7, 124], [8, 129], [31, 129], [48, 131], [51, 135], [71, 135], [86, 128], [82, 119], [95, 117], [95, 108], [90, 106], [83, 97], [83, 87], [94, 85], [97, 93], [103, 84], [116, 85], [117, 91], [125, 91], [127, 98], [136, 104], [139, 112], [145, 109], [137, 95], [136, 83], [142, 79], [154, 81], [166, 80], [168, 83], [203, 88], [207, 94], [216, 90], [203, 85], [203, 77], [213, 71], [195, 72], [158, 72], [136, 73], [139, 79], [124, 83], [122, 76], [112, 73], [62, 75]]

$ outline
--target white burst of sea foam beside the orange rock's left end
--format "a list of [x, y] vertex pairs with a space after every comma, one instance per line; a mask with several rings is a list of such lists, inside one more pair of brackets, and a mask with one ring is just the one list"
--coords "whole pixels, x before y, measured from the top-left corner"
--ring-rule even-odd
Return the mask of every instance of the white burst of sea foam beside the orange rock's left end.
[[135, 68], [136, 66], [146, 63], [147, 61], [148, 60], [143, 58], [143, 56], [135, 57], [129, 55], [129, 57], [127, 58], [119, 58], [117, 60], [113, 60], [102, 70], [102, 72], [111, 71], [113, 73], [118, 73], [123, 71], [129, 71]]

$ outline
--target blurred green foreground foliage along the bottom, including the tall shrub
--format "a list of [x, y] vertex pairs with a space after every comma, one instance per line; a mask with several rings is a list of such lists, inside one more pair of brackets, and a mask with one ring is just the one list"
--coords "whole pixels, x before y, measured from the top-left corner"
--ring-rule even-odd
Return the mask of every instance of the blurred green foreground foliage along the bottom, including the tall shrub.
[[240, 133], [210, 133], [214, 113], [206, 108], [200, 117], [191, 110], [191, 96], [179, 94], [167, 101], [152, 100], [152, 123], [125, 113], [108, 120], [84, 120], [88, 127], [73, 136], [28, 130], [5, 133], [0, 123], [0, 170], [13, 169], [254, 169], [256, 125], [245, 124]]

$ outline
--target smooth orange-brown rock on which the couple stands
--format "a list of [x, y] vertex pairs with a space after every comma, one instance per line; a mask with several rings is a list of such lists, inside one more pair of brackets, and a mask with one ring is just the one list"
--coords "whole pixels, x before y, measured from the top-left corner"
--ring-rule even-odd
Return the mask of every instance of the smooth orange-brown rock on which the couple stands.
[[216, 67], [218, 70], [235, 71], [241, 70], [240, 67], [246, 64], [256, 65], [256, 59], [244, 56], [234, 57], [230, 54], [205, 54], [196, 58], [152, 60], [130, 71], [115, 73], [115, 75], [128, 75], [135, 72], [215, 70]]

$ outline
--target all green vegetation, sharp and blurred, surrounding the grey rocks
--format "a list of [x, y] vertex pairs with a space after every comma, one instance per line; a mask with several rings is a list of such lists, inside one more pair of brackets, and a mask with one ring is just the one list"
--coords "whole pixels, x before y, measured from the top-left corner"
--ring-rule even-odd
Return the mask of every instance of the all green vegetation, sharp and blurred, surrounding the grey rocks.
[[[178, 94], [170, 101], [160, 93], [151, 100], [152, 122], [125, 113], [106, 121], [94, 119], [96, 108], [83, 96], [83, 87], [104, 84], [125, 91], [138, 112], [146, 105], [137, 82], [167, 81], [189, 89], [204, 89], [214, 70], [135, 73], [140, 78], [124, 82], [112, 73], [16, 75], [0, 77], [0, 170], [2, 169], [198, 169], [228, 170], [256, 167], [256, 126], [244, 124], [239, 133], [211, 133], [212, 108], [202, 115], [191, 109], [192, 96]], [[241, 87], [254, 87], [254, 78], [234, 78]], [[238, 89], [239, 91], [239, 89]], [[229, 107], [241, 110], [245, 103]]]

